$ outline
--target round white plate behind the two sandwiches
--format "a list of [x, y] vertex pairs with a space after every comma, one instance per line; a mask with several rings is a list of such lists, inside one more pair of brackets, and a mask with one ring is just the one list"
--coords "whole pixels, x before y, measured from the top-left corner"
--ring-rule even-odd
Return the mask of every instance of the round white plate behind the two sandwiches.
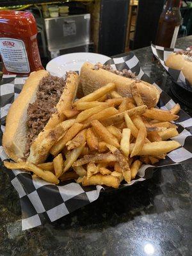
[[61, 55], [47, 63], [46, 70], [53, 76], [63, 77], [66, 71], [79, 71], [85, 61], [90, 63], [105, 63], [108, 56], [92, 52], [74, 52]]

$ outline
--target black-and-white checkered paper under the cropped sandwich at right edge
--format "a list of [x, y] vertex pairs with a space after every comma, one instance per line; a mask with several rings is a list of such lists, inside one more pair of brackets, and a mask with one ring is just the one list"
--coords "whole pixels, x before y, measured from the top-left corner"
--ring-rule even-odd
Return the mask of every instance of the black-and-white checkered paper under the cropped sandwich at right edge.
[[180, 70], [176, 70], [173, 68], [169, 68], [165, 65], [165, 61], [168, 58], [168, 56], [172, 52], [178, 52], [181, 49], [177, 48], [165, 48], [162, 46], [157, 46], [154, 44], [151, 44], [152, 52], [156, 56], [157, 60], [163, 65], [163, 67], [166, 69], [166, 71], [170, 74], [172, 77], [172, 80], [174, 83], [178, 84], [185, 90], [188, 90], [189, 92], [192, 92], [192, 87], [189, 84], [189, 81], [184, 77], [184, 74]]

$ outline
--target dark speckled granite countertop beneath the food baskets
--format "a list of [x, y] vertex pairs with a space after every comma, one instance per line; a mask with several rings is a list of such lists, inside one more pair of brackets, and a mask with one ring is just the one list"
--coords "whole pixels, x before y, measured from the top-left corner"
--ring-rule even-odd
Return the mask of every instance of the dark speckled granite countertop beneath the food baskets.
[[[185, 49], [191, 43], [188, 36], [176, 46]], [[134, 53], [143, 70], [175, 100], [172, 81], [160, 64], [151, 62], [150, 47]], [[192, 255], [191, 184], [191, 164], [163, 167], [151, 179], [102, 193], [65, 218], [22, 231], [19, 196], [8, 175], [0, 172], [0, 255]]]

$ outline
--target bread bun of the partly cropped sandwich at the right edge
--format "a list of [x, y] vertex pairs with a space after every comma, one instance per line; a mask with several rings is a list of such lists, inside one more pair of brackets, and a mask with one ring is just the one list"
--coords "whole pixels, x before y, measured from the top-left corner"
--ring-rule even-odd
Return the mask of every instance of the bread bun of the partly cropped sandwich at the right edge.
[[192, 86], [192, 57], [188, 57], [186, 54], [173, 52], [168, 56], [167, 60], [165, 61], [165, 65], [169, 68], [181, 70], [184, 77], [186, 77], [189, 84]]

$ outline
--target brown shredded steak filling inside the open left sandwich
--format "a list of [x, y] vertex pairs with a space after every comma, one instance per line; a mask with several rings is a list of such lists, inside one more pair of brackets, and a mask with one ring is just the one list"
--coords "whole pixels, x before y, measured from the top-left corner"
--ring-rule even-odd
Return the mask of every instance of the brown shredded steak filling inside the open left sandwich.
[[56, 112], [54, 107], [60, 100], [64, 86], [65, 80], [56, 76], [49, 75], [40, 81], [36, 100], [28, 107], [26, 157], [29, 156], [31, 143], [44, 129], [52, 113]]

